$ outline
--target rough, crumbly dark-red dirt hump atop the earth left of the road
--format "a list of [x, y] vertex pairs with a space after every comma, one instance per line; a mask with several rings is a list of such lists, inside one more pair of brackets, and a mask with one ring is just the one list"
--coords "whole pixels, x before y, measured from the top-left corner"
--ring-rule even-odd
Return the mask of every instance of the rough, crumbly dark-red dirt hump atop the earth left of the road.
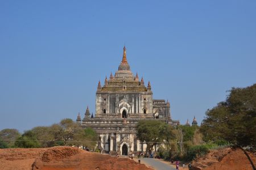
[[42, 162], [61, 160], [81, 152], [82, 150], [76, 147], [52, 147], [43, 153], [40, 160], [42, 160]]

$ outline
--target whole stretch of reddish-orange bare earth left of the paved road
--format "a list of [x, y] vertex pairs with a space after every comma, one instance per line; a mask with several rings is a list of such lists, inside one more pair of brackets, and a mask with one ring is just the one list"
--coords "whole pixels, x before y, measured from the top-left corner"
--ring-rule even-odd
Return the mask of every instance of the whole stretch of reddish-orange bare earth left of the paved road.
[[128, 158], [115, 158], [75, 147], [0, 149], [0, 169], [151, 169]]

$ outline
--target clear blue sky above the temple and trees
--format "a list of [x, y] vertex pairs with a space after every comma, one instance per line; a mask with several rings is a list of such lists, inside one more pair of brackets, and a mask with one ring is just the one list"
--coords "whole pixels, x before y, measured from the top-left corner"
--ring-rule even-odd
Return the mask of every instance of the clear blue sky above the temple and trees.
[[256, 83], [256, 1], [1, 1], [0, 130], [20, 132], [95, 111], [98, 80], [124, 43], [185, 124]]

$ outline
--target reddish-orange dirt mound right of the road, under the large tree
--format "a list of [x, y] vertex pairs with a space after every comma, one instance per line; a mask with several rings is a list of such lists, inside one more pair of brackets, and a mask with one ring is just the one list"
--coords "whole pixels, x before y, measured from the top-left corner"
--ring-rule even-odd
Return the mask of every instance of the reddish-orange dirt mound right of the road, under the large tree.
[[[251, 159], [256, 163], [256, 154], [249, 153]], [[212, 150], [203, 158], [197, 159], [192, 164], [193, 169], [252, 169], [249, 160], [243, 151], [239, 148], [225, 148], [221, 150]]]

